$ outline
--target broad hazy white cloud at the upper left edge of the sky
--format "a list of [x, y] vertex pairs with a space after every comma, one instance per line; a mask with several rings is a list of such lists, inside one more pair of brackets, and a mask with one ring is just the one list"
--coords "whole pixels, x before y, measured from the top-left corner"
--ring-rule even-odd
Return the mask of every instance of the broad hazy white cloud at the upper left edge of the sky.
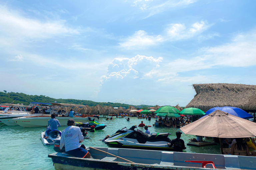
[[23, 17], [19, 12], [0, 5], [0, 33], [17, 38], [51, 38], [58, 35], [77, 35], [77, 29], [65, 25], [65, 20], [39, 21]]

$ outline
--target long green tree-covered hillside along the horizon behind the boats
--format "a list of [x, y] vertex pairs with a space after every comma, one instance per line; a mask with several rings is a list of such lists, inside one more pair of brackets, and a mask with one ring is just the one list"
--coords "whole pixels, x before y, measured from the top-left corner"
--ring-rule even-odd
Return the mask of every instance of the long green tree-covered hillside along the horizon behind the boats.
[[[15, 100], [15, 101], [14, 101]], [[14, 101], [14, 102], [13, 102]], [[14, 103], [14, 104], [24, 104], [29, 105], [30, 102], [40, 102], [40, 103], [53, 103], [57, 101], [57, 103], [70, 103], [70, 104], [78, 104], [78, 105], [88, 105], [88, 106], [96, 106], [100, 105], [102, 107], [111, 105], [112, 107], [125, 107], [128, 108], [131, 105], [124, 103], [111, 103], [111, 102], [93, 102], [90, 100], [76, 100], [76, 99], [54, 99], [44, 95], [27, 95], [24, 93], [15, 93], [8, 92], [4, 90], [4, 92], [0, 92], [0, 104], [1, 103]], [[134, 105], [132, 105], [134, 106]], [[152, 107], [150, 105], [138, 105], [139, 107]]]

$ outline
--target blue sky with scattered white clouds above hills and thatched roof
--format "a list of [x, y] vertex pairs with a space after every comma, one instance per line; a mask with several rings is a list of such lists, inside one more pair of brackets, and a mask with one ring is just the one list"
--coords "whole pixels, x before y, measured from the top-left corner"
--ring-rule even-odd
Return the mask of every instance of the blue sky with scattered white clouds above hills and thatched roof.
[[255, 85], [255, 5], [0, 0], [0, 91], [186, 106], [192, 84]]

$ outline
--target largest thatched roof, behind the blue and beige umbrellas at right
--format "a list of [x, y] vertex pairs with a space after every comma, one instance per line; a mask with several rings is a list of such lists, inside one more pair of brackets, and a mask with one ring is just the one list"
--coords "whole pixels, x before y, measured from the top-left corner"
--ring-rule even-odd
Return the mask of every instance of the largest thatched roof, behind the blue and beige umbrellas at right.
[[[193, 84], [196, 91], [194, 99], [185, 108], [198, 108], [206, 112], [214, 107], [231, 106], [245, 111], [255, 111], [253, 107], [249, 109], [248, 102], [256, 94], [255, 85], [246, 84]], [[252, 106], [252, 105], [250, 105]]]

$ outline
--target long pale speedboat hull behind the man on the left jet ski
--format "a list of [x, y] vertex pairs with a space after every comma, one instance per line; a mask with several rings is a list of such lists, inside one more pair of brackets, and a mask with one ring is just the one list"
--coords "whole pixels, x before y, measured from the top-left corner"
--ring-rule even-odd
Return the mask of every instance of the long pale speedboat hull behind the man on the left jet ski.
[[[14, 118], [12, 121], [17, 123], [22, 127], [46, 127], [48, 125], [48, 120], [51, 119], [51, 115], [43, 115], [43, 116], [25, 116], [20, 118]], [[90, 122], [91, 117], [82, 118], [80, 116], [71, 117], [55, 117], [58, 119], [61, 126], [67, 126], [67, 122], [69, 119], [74, 119], [75, 122]], [[98, 121], [98, 118], [93, 118], [95, 121]]]

